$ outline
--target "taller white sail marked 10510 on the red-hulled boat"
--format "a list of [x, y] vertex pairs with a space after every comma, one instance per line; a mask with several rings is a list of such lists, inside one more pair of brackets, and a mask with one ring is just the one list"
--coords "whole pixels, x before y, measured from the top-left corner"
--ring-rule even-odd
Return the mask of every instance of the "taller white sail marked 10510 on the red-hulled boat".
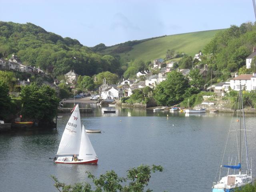
[[77, 104], [62, 134], [57, 155], [79, 154], [81, 136], [80, 111]]

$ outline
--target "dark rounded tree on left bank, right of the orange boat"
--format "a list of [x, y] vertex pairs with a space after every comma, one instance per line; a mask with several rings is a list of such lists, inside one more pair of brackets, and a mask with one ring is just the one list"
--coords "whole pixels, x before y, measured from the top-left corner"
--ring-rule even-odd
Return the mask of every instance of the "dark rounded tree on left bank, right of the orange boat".
[[32, 83], [22, 86], [20, 96], [22, 99], [22, 114], [27, 120], [38, 122], [52, 122], [57, 115], [59, 99], [55, 90], [43, 84], [38, 86]]

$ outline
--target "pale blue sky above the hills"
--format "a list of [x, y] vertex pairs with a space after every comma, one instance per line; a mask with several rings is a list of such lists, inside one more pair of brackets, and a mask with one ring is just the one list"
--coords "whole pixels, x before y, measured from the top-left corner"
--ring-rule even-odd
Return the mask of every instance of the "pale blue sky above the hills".
[[30, 22], [85, 46], [255, 22], [252, 0], [0, 0], [0, 20]]

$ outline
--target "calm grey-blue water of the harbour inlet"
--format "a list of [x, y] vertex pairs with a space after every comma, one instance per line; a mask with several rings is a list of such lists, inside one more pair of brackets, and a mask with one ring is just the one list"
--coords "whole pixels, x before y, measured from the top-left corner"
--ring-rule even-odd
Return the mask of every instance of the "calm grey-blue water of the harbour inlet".
[[[85, 171], [99, 176], [115, 170], [125, 176], [126, 170], [140, 164], [157, 164], [164, 172], [152, 174], [149, 188], [156, 192], [211, 191], [222, 157], [232, 114], [185, 116], [180, 112], [153, 112], [117, 108], [116, 114], [81, 114], [88, 129], [101, 129], [89, 134], [98, 165], [54, 164], [62, 132], [70, 114], [58, 119], [58, 127], [49, 131], [27, 131], [0, 135], [0, 191], [57, 191], [50, 175], [73, 184], [89, 181]], [[168, 114], [168, 117], [167, 117]], [[249, 156], [256, 165], [256, 118], [248, 115]]]

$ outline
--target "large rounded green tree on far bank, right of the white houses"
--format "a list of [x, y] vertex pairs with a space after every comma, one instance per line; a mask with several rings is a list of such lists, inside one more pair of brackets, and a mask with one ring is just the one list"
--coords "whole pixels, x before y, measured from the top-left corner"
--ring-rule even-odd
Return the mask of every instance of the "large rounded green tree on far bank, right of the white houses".
[[156, 86], [154, 99], [158, 105], [171, 106], [183, 99], [183, 94], [188, 88], [188, 78], [180, 72], [172, 71], [167, 74], [165, 81]]

